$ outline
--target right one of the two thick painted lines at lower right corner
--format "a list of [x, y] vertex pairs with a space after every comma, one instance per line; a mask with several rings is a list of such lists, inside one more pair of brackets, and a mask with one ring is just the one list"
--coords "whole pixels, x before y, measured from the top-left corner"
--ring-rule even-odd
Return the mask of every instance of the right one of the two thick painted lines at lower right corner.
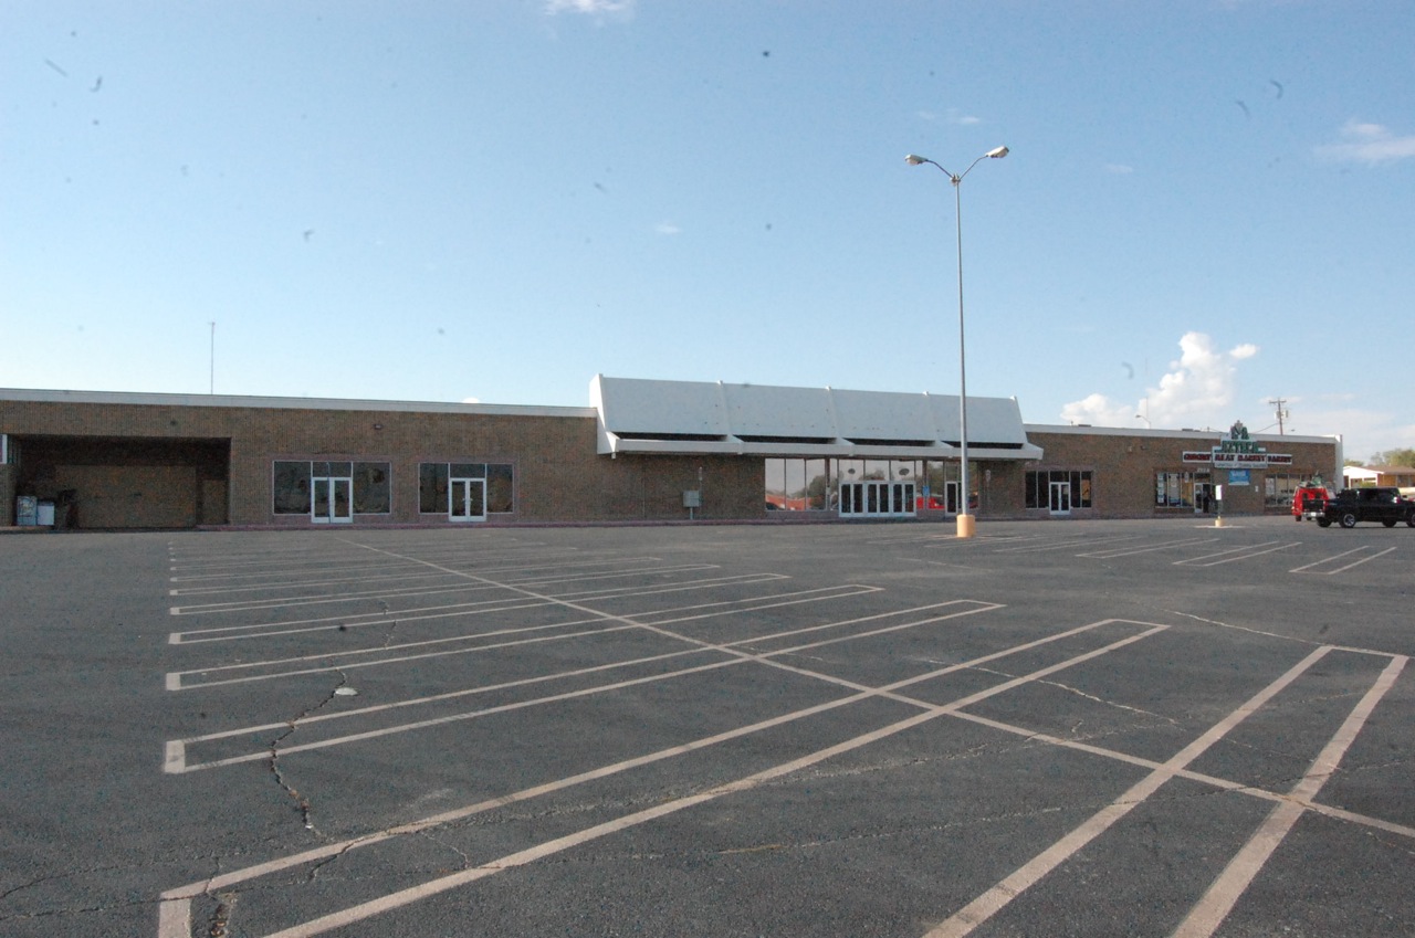
[[[1336, 731], [1322, 748], [1322, 753], [1313, 760], [1307, 772], [1292, 787], [1292, 798], [1300, 801], [1316, 798], [1317, 792], [1322, 791], [1322, 785], [1326, 784], [1332, 772], [1340, 765], [1346, 750], [1356, 741], [1361, 727], [1365, 726], [1365, 720], [1375, 710], [1375, 705], [1381, 702], [1385, 692], [1395, 683], [1395, 678], [1399, 676], [1407, 661], [1409, 659], [1404, 655], [1391, 659], [1391, 664], [1385, 666], [1385, 671], [1371, 685], [1371, 689], [1365, 692], [1365, 696], [1361, 697], [1360, 703], [1346, 717], [1346, 722], [1341, 723], [1341, 729]], [[1264, 821], [1262, 826], [1258, 828], [1258, 832], [1230, 860], [1224, 872], [1208, 887], [1208, 891], [1204, 893], [1204, 897], [1199, 900], [1199, 904], [1179, 924], [1179, 928], [1173, 932], [1173, 938], [1208, 938], [1218, 931], [1218, 925], [1223, 924], [1228, 913], [1238, 904], [1238, 898], [1248, 890], [1248, 886], [1252, 884], [1252, 880], [1268, 863], [1274, 850], [1278, 849], [1303, 812], [1305, 808], [1298, 801], [1279, 802], [1272, 809], [1272, 813], [1268, 815], [1268, 819]]]

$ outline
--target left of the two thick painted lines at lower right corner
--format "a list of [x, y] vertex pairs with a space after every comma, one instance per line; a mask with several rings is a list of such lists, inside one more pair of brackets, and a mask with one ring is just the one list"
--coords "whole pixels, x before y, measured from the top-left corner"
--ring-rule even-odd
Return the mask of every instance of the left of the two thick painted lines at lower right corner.
[[1296, 681], [1312, 665], [1320, 661], [1332, 648], [1323, 645], [1293, 665], [1285, 675], [1269, 683], [1237, 710], [1211, 726], [1203, 736], [1182, 748], [1163, 765], [1152, 771], [1135, 785], [1131, 785], [1109, 805], [1091, 815], [1090, 819], [1074, 828], [1070, 833], [1039, 853], [1030, 862], [1005, 877], [1000, 883], [972, 900], [954, 913], [947, 921], [928, 931], [924, 938], [962, 938], [983, 924], [1013, 898], [1024, 893], [1041, 877], [1049, 874], [1063, 862], [1068, 860], [1085, 845], [1098, 838], [1116, 821], [1128, 815], [1135, 806], [1143, 804], [1160, 785], [1173, 778], [1180, 770], [1199, 758], [1208, 747], [1223, 739], [1230, 730], [1252, 716], [1268, 700], [1275, 697], [1283, 688]]

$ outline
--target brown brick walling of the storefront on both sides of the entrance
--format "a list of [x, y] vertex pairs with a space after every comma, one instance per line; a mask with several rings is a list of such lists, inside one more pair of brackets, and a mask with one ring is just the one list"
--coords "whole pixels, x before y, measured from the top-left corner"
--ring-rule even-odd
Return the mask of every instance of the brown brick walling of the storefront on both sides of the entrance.
[[[361, 515], [357, 523], [437, 522], [441, 515], [417, 511], [417, 467], [420, 463], [508, 463], [514, 467], [515, 511], [492, 515], [491, 523], [552, 521], [662, 521], [688, 518], [682, 494], [699, 487], [702, 470], [703, 506], [699, 518], [766, 518], [764, 461], [760, 457], [730, 456], [620, 456], [596, 453], [596, 422], [591, 416], [565, 415], [477, 415], [406, 410], [321, 410], [303, 407], [218, 407], [201, 405], [117, 405], [0, 400], [0, 432], [11, 437], [61, 436], [102, 440], [167, 440], [173, 451], [183, 441], [229, 440], [229, 477], [198, 471], [191, 485], [166, 487], [171, 504], [154, 505], [149, 518], [187, 518], [197, 523], [306, 525], [304, 515], [277, 516], [272, 511], [272, 463], [275, 460], [355, 460], [388, 463], [392, 471], [392, 509], [388, 515]], [[975, 480], [982, 494], [981, 518], [1044, 518], [1046, 509], [1024, 506], [1024, 474], [1029, 470], [1090, 470], [1091, 509], [1075, 516], [1150, 518], [1191, 509], [1156, 508], [1155, 473], [1194, 471], [1182, 460], [1184, 450], [1207, 450], [1221, 433], [1184, 436], [1126, 436], [1107, 433], [1047, 433], [1029, 430], [1029, 439], [1044, 450], [1036, 463], [981, 463]], [[1269, 451], [1286, 451], [1293, 464], [1269, 471], [1330, 475], [1336, 464], [1333, 443], [1282, 443], [1265, 439]], [[106, 446], [106, 444], [105, 444]], [[195, 446], [195, 444], [192, 444]], [[21, 458], [23, 451], [21, 451]], [[180, 461], [174, 457], [175, 461]], [[158, 460], [171, 463], [174, 460]], [[10, 467], [13, 468], [13, 467]], [[23, 468], [23, 467], [21, 467]], [[149, 467], [147, 477], [160, 471]], [[58, 474], [48, 480], [59, 488]], [[62, 473], [69, 473], [64, 468]], [[137, 478], [132, 470], [129, 478]], [[1225, 481], [1225, 471], [1214, 471]], [[1265, 473], [1252, 473], [1252, 485], [1230, 488], [1225, 511], [1264, 511]], [[11, 473], [13, 485], [23, 484]], [[119, 484], [85, 477], [83, 485]], [[4, 492], [0, 474], [0, 494]], [[134, 490], [136, 491], [136, 490]], [[14, 511], [14, 495], [6, 497]], [[31, 494], [31, 492], [25, 492]], [[54, 491], [34, 492], [52, 497]], [[83, 498], [81, 492], [81, 499]], [[109, 497], [110, 494], [105, 494]], [[226, 505], [229, 505], [229, 512]], [[132, 518], [103, 508], [99, 518]], [[0, 515], [3, 518], [4, 515]], [[214, 521], [215, 519], [215, 521]], [[82, 515], [81, 515], [81, 523]]]

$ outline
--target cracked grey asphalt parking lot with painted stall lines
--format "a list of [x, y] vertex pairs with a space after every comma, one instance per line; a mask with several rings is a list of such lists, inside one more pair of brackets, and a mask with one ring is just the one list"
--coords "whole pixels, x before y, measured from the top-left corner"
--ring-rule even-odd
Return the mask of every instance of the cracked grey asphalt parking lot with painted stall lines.
[[0, 538], [0, 932], [1409, 935], [1415, 532]]

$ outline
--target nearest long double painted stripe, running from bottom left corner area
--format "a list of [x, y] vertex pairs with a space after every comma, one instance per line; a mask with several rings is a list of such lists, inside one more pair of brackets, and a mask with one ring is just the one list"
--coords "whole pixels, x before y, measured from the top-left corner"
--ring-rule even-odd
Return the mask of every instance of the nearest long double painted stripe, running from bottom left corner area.
[[[1102, 624], [1107, 624], [1107, 623], [1094, 623], [1091, 625], [1082, 625], [1080, 628], [1068, 630], [1065, 632], [1061, 632], [1061, 634], [1057, 634], [1057, 635], [1053, 635], [1053, 637], [1047, 637], [1047, 638], [1043, 638], [1043, 639], [1037, 639], [1034, 642], [1027, 642], [1024, 645], [1017, 645], [1016, 648], [1007, 649], [1006, 652], [995, 652], [995, 654], [990, 654], [990, 655], [986, 655], [983, 658], [978, 658], [978, 659], [974, 659], [974, 661], [959, 662], [957, 665], [949, 665], [947, 668], [938, 669], [937, 672], [932, 672], [931, 676], [941, 676], [944, 673], [949, 673], [949, 672], [959, 671], [959, 669], [964, 669], [964, 668], [974, 668], [974, 666], [976, 666], [979, 664], [983, 664], [985, 661], [995, 659], [999, 655], [1015, 654], [1015, 652], [1022, 651], [1024, 648], [1033, 648], [1033, 647], [1043, 645], [1043, 644], [1047, 644], [1047, 642], [1051, 642], [1051, 641], [1057, 641], [1060, 638], [1064, 638], [1064, 637], [1068, 637], [1068, 635], [1074, 635], [1074, 634], [1081, 632], [1081, 631], [1088, 631], [1088, 630], [1095, 628], [1095, 627], [1102, 625]], [[1167, 627], [1165, 627], [1165, 625], [1156, 625], [1155, 628], [1152, 628], [1146, 634], [1155, 634], [1155, 632], [1162, 631], [1165, 628], [1167, 628]], [[1085, 655], [1080, 655], [1080, 656], [1077, 656], [1075, 659], [1071, 659], [1071, 661], [1080, 662], [1080, 661], [1091, 659], [1091, 658], [1097, 656], [1098, 654], [1105, 654], [1112, 647], [1118, 648], [1118, 647], [1122, 647], [1122, 645], [1128, 645], [1128, 644], [1131, 644], [1133, 641], [1138, 641], [1138, 638], [1139, 637], [1128, 637], [1125, 639], [1121, 639], [1119, 642], [1114, 642], [1111, 647], [1095, 649], [1092, 652], [1087, 652]], [[436, 879], [436, 880], [430, 880], [427, 883], [422, 883], [419, 886], [413, 886], [410, 888], [405, 888], [405, 890], [400, 890], [398, 893], [392, 893], [389, 896], [383, 896], [383, 897], [372, 900], [369, 903], [362, 903], [359, 905], [354, 905], [351, 908], [345, 908], [345, 910], [328, 914], [328, 915], [323, 915], [323, 917], [316, 918], [313, 921], [303, 922], [303, 924], [296, 925], [293, 928], [286, 928], [283, 931], [273, 932], [273, 934], [267, 935], [266, 938], [310, 938], [313, 935], [323, 934], [323, 932], [330, 931], [333, 928], [340, 928], [342, 925], [348, 925], [348, 924], [361, 921], [364, 918], [369, 918], [372, 915], [378, 915], [381, 913], [391, 911], [391, 910], [402, 907], [402, 905], [408, 905], [410, 903], [416, 903], [416, 901], [419, 901], [422, 898], [427, 898], [429, 896], [436, 896], [439, 893], [444, 893], [447, 890], [457, 888], [460, 886], [464, 886], [467, 883], [475, 881], [475, 880], [483, 879], [485, 876], [491, 876], [494, 873], [499, 873], [501, 870], [512, 869], [512, 867], [516, 867], [516, 866], [524, 866], [524, 864], [531, 863], [533, 860], [550, 856], [550, 855], [558, 853], [558, 852], [563, 852], [566, 849], [570, 849], [570, 847], [582, 845], [582, 843], [587, 843], [587, 842], [594, 840], [597, 838], [603, 838], [603, 836], [607, 836], [610, 833], [617, 833], [617, 832], [624, 830], [627, 828], [631, 828], [631, 826], [635, 826], [635, 825], [641, 825], [641, 823], [645, 823], [648, 821], [654, 821], [654, 819], [658, 819], [658, 818], [662, 818], [662, 816], [666, 816], [666, 815], [671, 815], [671, 813], [676, 813], [678, 811], [683, 811], [685, 808], [696, 806], [699, 804], [703, 804], [706, 801], [712, 801], [712, 799], [719, 798], [722, 795], [736, 794], [736, 792], [741, 792], [741, 791], [749, 791], [749, 789], [756, 788], [756, 787], [761, 785], [763, 782], [770, 781], [773, 778], [780, 778], [782, 775], [799, 771], [801, 768], [808, 768], [809, 765], [814, 765], [816, 763], [825, 761], [826, 758], [832, 758], [835, 755], [841, 755], [843, 753], [860, 748], [860, 747], [863, 747], [863, 746], [866, 746], [869, 743], [886, 739], [889, 736], [894, 736], [897, 733], [901, 733], [904, 730], [913, 729], [914, 726], [920, 726], [923, 723], [927, 723], [930, 720], [938, 719], [941, 716], [952, 716], [955, 713], [955, 709], [959, 707], [959, 706], [966, 706], [968, 703], [976, 703], [978, 700], [982, 700], [982, 699], [985, 699], [988, 696], [992, 696], [992, 693], [1000, 693], [1005, 689], [1020, 686], [1022, 683], [1026, 683], [1029, 679], [1036, 679], [1036, 676], [1044, 676], [1047, 673], [1054, 673], [1056, 671], [1058, 671], [1061, 668], [1065, 668], [1065, 666], [1068, 666], [1067, 662], [1061, 662], [1058, 665], [1053, 665], [1053, 666], [1044, 668], [1044, 669], [1041, 669], [1039, 672], [1034, 672], [1034, 676], [1033, 675], [1023, 675], [1022, 678], [1016, 678], [1013, 681], [1009, 681], [1005, 685], [999, 685], [993, 690], [981, 690], [981, 692], [969, 695], [968, 697], [964, 697], [962, 700], [958, 700], [958, 702], [955, 702], [952, 705], [948, 705], [948, 706], [930, 706], [923, 713], [918, 713], [918, 714], [916, 714], [913, 717], [908, 717], [906, 720], [900, 720], [897, 723], [880, 727], [880, 729], [873, 730], [870, 733], [866, 733], [866, 734], [862, 734], [862, 736], [856, 736], [856, 737], [853, 737], [850, 740], [846, 740], [843, 743], [839, 743], [836, 746], [831, 746], [831, 747], [826, 747], [826, 748], [822, 748], [822, 750], [816, 750], [815, 753], [811, 753], [811, 754], [804, 755], [801, 758], [791, 760], [788, 763], [781, 763], [778, 765], [774, 765], [774, 767], [767, 768], [764, 771], [756, 772], [753, 775], [747, 775], [744, 778], [739, 778], [736, 781], [723, 784], [723, 785], [717, 785], [717, 787], [715, 787], [712, 789], [699, 792], [698, 795], [691, 795], [691, 797], [686, 797], [686, 798], [679, 798], [679, 799], [675, 799], [675, 801], [664, 802], [661, 805], [655, 805], [654, 808], [648, 808], [645, 811], [640, 811], [640, 812], [634, 812], [634, 813], [630, 813], [630, 815], [624, 815], [624, 816], [617, 818], [614, 821], [610, 821], [610, 822], [606, 822], [606, 823], [601, 823], [601, 825], [596, 825], [596, 826], [587, 828], [584, 830], [579, 830], [576, 833], [572, 833], [572, 835], [567, 835], [567, 836], [563, 836], [563, 838], [558, 838], [555, 840], [549, 840], [546, 843], [536, 845], [536, 846], [529, 847], [526, 850], [521, 850], [521, 852], [512, 853], [509, 856], [501, 857], [501, 859], [494, 860], [491, 863], [487, 863], [484, 866], [480, 866], [480, 867], [475, 867], [475, 869], [471, 869], [471, 870], [464, 870], [461, 873], [456, 873], [456, 874], [451, 874], [451, 876], [444, 876], [444, 877], [440, 877], [440, 879]], [[917, 682], [918, 679], [924, 679], [924, 676], [916, 678], [916, 679], [910, 679], [910, 683]], [[535, 798], [535, 797], [539, 797], [542, 794], [549, 794], [549, 792], [553, 792], [553, 791], [560, 791], [563, 788], [569, 788], [570, 785], [577, 785], [577, 784], [582, 784], [582, 782], [586, 782], [586, 781], [591, 781], [591, 780], [596, 780], [596, 778], [604, 778], [607, 775], [618, 774], [618, 772], [627, 771], [628, 768], [637, 768], [637, 767], [641, 767], [641, 765], [647, 765], [649, 763], [659, 761], [662, 758], [671, 758], [674, 755], [681, 755], [681, 754], [685, 754], [685, 753], [692, 753], [692, 751], [705, 748], [708, 746], [713, 746], [713, 744], [717, 744], [717, 743], [722, 743], [722, 741], [737, 739], [737, 737], [746, 736], [749, 733], [756, 733], [756, 731], [760, 731], [760, 730], [764, 730], [764, 729], [770, 729], [770, 727], [774, 727], [774, 726], [780, 726], [780, 724], [784, 724], [784, 723], [788, 723], [788, 722], [792, 722], [792, 720], [798, 720], [798, 719], [802, 719], [802, 717], [807, 717], [807, 716], [814, 716], [816, 713], [825, 713], [826, 710], [832, 710], [832, 709], [836, 709], [836, 707], [841, 707], [841, 706], [848, 706], [850, 703], [857, 703], [860, 700], [866, 700], [866, 699], [869, 699], [872, 696], [876, 696], [880, 692], [887, 692], [889, 689], [893, 689], [893, 688], [897, 688], [897, 686], [901, 686], [901, 685], [887, 685], [887, 688], [883, 688], [880, 690], [873, 690], [873, 692], [872, 690], [863, 690], [863, 692], [859, 692], [859, 693], [849, 695], [846, 697], [841, 697], [838, 700], [831, 700], [828, 703], [822, 703], [822, 705], [816, 705], [814, 707], [808, 707], [805, 710], [797, 710], [797, 712], [792, 712], [792, 713], [781, 714], [778, 717], [773, 717], [770, 720], [764, 720], [761, 723], [756, 723], [756, 724], [751, 724], [749, 727], [739, 727], [736, 730], [729, 730], [726, 733], [720, 733], [720, 734], [713, 736], [713, 737], [705, 737], [705, 739], [695, 740], [693, 743], [688, 743], [688, 744], [683, 744], [683, 746], [676, 746], [676, 747], [672, 747], [672, 748], [659, 750], [658, 753], [651, 753], [648, 755], [642, 755], [642, 757], [638, 757], [638, 758], [634, 758], [634, 760], [627, 760], [624, 763], [617, 763], [614, 765], [606, 765], [606, 767], [601, 767], [601, 768], [597, 768], [597, 770], [591, 770], [590, 772], [584, 772], [584, 774], [580, 774], [580, 775], [573, 775], [570, 778], [559, 780], [556, 782], [548, 782], [545, 785], [538, 785], [535, 788], [528, 788], [528, 789], [524, 789], [521, 792], [505, 795], [502, 798], [494, 798], [494, 799], [490, 799], [490, 801], [478, 802], [475, 805], [470, 805], [467, 808], [451, 811], [451, 812], [447, 812], [447, 813], [443, 813], [443, 815], [436, 815], [433, 818], [427, 818], [427, 819], [420, 821], [420, 822], [415, 822], [415, 823], [409, 823], [409, 825], [402, 825], [399, 828], [391, 828], [391, 829], [386, 829], [386, 830], [381, 830], [381, 832], [369, 835], [366, 838], [358, 838], [358, 839], [354, 839], [354, 840], [345, 840], [342, 843], [325, 845], [325, 846], [321, 846], [321, 847], [316, 847], [313, 850], [306, 850], [304, 853], [299, 853], [299, 855], [287, 856], [287, 857], [280, 857], [277, 860], [270, 860], [270, 862], [262, 863], [259, 866], [246, 867], [243, 870], [235, 870], [232, 873], [225, 873], [225, 874], [221, 874], [221, 876], [214, 876], [211, 879], [200, 880], [200, 881], [191, 883], [188, 886], [181, 886], [181, 887], [177, 887], [177, 888], [173, 888], [173, 890], [167, 890], [160, 897], [161, 903], [160, 903], [160, 908], [158, 908], [158, 938], [192, 938], [191, 937], [191, 900], [197, 898], [198, 896], [209, 894], [209, 893], [212, 893], [215, 890], [221, 890], [221, 888], [225, 888], [225, 887], [229, 887], [229, 886], [235, 886], [238, 883], [243, 883], [243, 881], [260, 877], [260, 876], [267, 876], [270, 873], [276, 873], [276, 872], [280, 872], [280, 870], [284, 870], [284, 869], [290, 869], [293, 866], [301, 866], [304, 863], [311, 863], [311, 862], [321, 860], [321, 859], [325, 859], [325, 857], [330, 857], [330, 856], [337, 856], [337, 855], [348, 852], [348, 850], [359, 849], [359, 847], [364, 847], [364, 846], [371, 846], [374, 843], [379, 843], [382, 840], [388, 840], [388, 839], [395, 838], [395, 836], [400, 836], [400, 835], [405, 835], [405, 833], [416, 833], [416, 832], [426, 830], [426, 829], [433, 828], [433, 826], [439, 826], [439, 825], [443, 825], [443, 823], [450, 823], [453, 821], [458, 821], [458, 819], [470, 816], [473, 813], [478, 813], [478, 812], [483, 812], [483, 811], [490, 811], [492, 808], [499, 808], [499, 806], [504, 806], [504, 805], [515, 804], [518, 801], [525, 801], [525, 799], [529, 799], [529, 798]], [[185, 930], [185, 931], [183, 931], [183, 930]]]

